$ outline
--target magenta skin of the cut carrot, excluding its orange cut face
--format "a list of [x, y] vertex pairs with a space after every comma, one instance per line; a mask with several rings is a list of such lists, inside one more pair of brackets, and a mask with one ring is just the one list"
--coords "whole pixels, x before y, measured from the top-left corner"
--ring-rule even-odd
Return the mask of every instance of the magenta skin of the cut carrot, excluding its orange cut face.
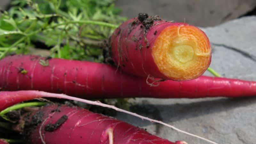
[[[134, 24], [132, 24], [133, 21]], [[132, 28], [129, 28], [131, 25]], [[142, 23], [138, 18], [130, 19], [117, 28], [111, 36], [111, 57], [115, 64], [126, 73], [144, 77], [150, 74], [156, 78], [170, 79], [159, 71], [151, 51], [155, 39], [164, 28], [179, 25], [187, 24], [166, 22], [165, 20], [154, 21], [146, 35], [147, 43], [144, 41]], [[154, 34], [155, 32], [156, 34]]]

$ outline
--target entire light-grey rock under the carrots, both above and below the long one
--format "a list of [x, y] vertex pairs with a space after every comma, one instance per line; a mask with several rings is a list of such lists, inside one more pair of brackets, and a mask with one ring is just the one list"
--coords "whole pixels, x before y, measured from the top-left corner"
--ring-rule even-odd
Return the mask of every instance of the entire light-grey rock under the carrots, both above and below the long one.
[[[256, 81], [256, 17], [244, 17], [203, 30], [213, 44], [212, 68], [222, 76]], [[253, 59], [244, 53], [248, 53]], [[256, 97], [169, 100], [137, 98], [134, 102], [137, 105], [132, 107], [133, 112], [162, 120], [219, 144], [256, 143]], [[127, 114], [118, 113], [117, 118], [147, 128], [148, 132], [168, 140], [208, 144]]]

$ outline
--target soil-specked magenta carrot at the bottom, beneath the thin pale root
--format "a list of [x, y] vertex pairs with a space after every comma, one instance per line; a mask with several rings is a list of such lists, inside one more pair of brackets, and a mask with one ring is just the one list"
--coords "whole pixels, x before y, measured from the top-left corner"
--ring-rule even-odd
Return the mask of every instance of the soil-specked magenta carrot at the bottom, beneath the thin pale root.
[[[43, 115], [41, 123], [35, 127], [31, 123], [32, 117], [39, 115]], [[47, 125], [55, 124], [61, 117], [66, 121], [62, 121], [59, 127], [53, 131], [45, 130]], [[173, 143], [115, 118], [65, 105], [41, 108], [28, 117], [25, 125], [31, 126], [24, 129], [24, 133], [30, 133], [27, 137], [30, 144], [186, 144], [182, 141]]]

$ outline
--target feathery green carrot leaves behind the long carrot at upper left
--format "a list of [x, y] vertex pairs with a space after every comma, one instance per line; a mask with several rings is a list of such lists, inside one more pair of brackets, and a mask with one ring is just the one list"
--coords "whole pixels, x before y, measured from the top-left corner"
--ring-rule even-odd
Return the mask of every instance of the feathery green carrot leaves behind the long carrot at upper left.
[[114, 0], [13, 0], [11, 5], [0, 18], [0, 59], [29, 53], [39, 42], [51, 48], [52, 57], [102, 62], [99, 44], [126, 20]]

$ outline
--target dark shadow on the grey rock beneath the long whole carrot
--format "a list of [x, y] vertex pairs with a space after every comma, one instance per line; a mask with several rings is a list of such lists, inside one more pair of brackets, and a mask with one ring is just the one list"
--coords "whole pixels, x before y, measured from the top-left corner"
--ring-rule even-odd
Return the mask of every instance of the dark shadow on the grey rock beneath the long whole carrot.
[[[202, 100], [202, 99], [201, 99]], [[145, 103], [145, 104], [144, 104]], [[147, 116], [165, 123], [176, 122], [182, 119], [188, 119], [198, 116], [220, 113], [239, 107], [248, 107], [256, 104], [256, 97], [248, 98], [223, 98], [217, 100], [203, 100], [191, 103], [176, 103], [170, 105], [150, 104], [148, 100], [144, 100], [143, 104], [133, 105], [130, 109], [132, 112]], [[139, 118], [129, 118], [127, 114], [119, 113], [117, 118], [122, 119], [131, 124], [138, 124], [141, 127], [152, 125], [149, 121], [141, 121]], [[161, 124], [155, 124], [154, 132], [161, 131]]]

